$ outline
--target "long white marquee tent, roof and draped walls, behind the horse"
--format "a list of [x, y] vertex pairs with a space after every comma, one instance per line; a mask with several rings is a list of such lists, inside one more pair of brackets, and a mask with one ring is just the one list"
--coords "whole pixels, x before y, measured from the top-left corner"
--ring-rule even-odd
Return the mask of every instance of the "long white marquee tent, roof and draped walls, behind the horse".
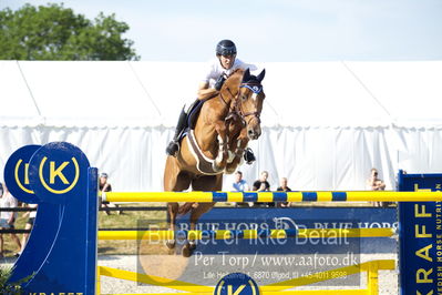
[[[442, 61], [260, 63], [266, 68], [258, 161], [271, 189], [388, 189], [399, 169], [442, 172]], [[68, 141], [115, 191], [162, 191], [164, 149], [204, 63], [0, 61], [0, 166], [24, 144]], [[2, 176], [2, 171], [0, 172]], [[225, 190], [229, 190], [226, 176]]]

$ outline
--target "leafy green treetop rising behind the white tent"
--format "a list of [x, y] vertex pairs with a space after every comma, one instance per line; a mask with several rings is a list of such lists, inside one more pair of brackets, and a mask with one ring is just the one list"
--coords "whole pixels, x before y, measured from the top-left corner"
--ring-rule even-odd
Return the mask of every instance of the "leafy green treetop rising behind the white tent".
[[0, 10], [0, 60], [138, 60], [125, 22], [91, 21], [63, 4]]

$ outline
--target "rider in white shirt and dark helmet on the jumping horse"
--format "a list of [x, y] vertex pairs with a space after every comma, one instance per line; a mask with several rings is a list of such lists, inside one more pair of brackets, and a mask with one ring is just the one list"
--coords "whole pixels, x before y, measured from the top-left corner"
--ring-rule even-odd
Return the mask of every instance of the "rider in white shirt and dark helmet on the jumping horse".
[[[175, 134], [173, 140], [168, 143], [166, 148], [166, 153], [176, 156], [179, 150], [179, 135], [183, 130], [187, 126], [187, 115], [194, 104], [199, 100], [199, 98], [207, 98], [210, 93], [215, 94], [219, 91], [224, 84], [224, 81], [237, 69], [250, 71], [257, 70], [257, 67], [253, 64], [247, 64], [241, 60], [236, 58], [236, 45], [230, 40], [222, 40], [216, 45], [216, 59], [209, 62], [208, 71], [203, 81], [198, 87], [198, 99], [192, 103], [186, 103], [179, 114], [178, 123], [175, 129]], [[255, 156], [250, 149], [245, 152], [245, 160], [247, 163], [255, 161]]]

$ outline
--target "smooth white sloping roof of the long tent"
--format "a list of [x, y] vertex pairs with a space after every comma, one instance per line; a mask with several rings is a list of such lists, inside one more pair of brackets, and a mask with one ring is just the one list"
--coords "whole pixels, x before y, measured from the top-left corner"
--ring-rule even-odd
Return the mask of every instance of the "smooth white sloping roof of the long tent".
[[[265, 126], [442, 126], [442, 61], [266, 68]], [[0, 125], [174, 126], [205, 63], [0, 61]]]

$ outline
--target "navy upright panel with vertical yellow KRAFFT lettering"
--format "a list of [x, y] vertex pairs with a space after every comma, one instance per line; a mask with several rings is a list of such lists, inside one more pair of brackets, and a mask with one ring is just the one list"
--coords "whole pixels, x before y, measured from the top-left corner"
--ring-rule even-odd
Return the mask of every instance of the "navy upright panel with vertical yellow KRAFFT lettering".
[[[442, 174], [399, 173], [399, 191], [441, 191]], [[440, 294], [442, 218], [440, 202], [399, 206], [401, 294]]]

